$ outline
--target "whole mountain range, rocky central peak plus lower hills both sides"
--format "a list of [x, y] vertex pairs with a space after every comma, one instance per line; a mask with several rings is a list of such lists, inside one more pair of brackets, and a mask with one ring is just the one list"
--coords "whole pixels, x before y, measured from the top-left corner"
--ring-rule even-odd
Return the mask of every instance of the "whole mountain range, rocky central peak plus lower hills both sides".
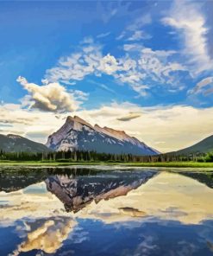
[[[47, 152], [50, 150], [95, 150], [97, 152], [133, 155], [158, 155], [160, 152], [147, 146], [125, 131], [117, 131], [109, 127], [91, 125], [82, 118], [67, 117], [60, 130], [53, 132], [47, 144], [40, 144], [19, 135], [0, 134], [0, 150], [7, 152]], [[183, 150], [168, 154], [189, 155], [213, 151], [213, 135]]]

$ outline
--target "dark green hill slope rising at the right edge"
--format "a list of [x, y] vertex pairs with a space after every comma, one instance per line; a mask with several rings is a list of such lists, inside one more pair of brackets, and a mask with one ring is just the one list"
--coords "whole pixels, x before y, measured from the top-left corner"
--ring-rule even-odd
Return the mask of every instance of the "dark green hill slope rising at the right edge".
[[192, 145], [191, 147], [185, 148], [183, 150], [178, 150], [174, 153], [176, 155], [189, 155], [196, 153], [208, 153], [210, 151], [213, 151], [213, 135], [208, 138], [204, 138], [202, 141]]

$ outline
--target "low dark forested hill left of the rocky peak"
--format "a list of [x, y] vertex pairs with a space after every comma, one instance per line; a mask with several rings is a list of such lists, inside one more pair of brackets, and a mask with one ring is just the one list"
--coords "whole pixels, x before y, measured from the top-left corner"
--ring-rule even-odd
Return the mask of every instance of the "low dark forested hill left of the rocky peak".
[[0, 150], [6, 152], [47, 152], [50, 151], [47, 146], [29, 140], [28, 138], [23, 138], [19, 135], [0, 134]]

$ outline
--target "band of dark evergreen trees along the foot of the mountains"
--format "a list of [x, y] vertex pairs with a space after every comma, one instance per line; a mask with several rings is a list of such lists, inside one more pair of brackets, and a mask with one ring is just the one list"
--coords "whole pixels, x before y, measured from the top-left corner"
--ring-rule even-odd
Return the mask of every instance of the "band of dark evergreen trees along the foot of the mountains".
[[132, 154], [97, 153], [96, 151], [59, 151], [59, 152], [5, 152], [0, 150], [0, 160], [5, 161], [43, 161], [43, 162], [213, 162], [213, 152], [176, 156], [160, 154], [157, 156], [134, 156]]

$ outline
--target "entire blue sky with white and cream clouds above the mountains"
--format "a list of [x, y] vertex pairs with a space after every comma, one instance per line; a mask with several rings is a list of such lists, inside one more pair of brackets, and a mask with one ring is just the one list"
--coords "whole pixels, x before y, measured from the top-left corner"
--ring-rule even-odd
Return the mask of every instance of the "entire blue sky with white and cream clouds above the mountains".
[[153, 148], [213, 134], [213, 1], [1, 1], [0, 133], [78, 115]]

